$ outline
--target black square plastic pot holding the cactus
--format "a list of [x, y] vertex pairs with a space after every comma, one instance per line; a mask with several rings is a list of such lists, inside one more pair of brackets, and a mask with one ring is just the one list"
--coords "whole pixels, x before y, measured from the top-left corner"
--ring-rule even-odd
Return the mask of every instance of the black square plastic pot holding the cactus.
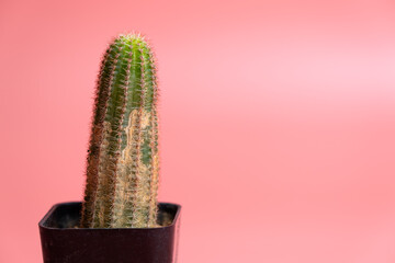
[[44, 263], [176, 263], [181, 206], [160, 203], [158, 228], [77, 228], [81, 203], [54, 205], [38, 222]]

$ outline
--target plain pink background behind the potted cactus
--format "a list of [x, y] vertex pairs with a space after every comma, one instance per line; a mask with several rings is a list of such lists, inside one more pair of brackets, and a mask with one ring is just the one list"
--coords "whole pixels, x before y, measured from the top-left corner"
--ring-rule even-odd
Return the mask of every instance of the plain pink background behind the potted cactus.
[[81, 199], [101, 54], [149, 36], [180, 263], [395, 262], [393, 1], [0, 1], [0, 262]]

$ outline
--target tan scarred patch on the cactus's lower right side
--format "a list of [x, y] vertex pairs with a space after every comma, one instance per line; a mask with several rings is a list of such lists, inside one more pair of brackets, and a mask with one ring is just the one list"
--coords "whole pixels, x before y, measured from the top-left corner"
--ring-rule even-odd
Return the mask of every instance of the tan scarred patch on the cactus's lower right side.
[[[156, 171], [151, 163], [143, 163], [140, 147], [145, 142], [144, 138], [153, 138], [153, 127], [150, 127], [153, 114], [148, 111], [133, 110], [128, 118], [125, 128], [126, 147], [117, 163], [112, 227], [147, 227], [155, 225], [147, 222], [148, 218], [156, 218], [149, 216], [153, 210], [156, 213], [156, 207], [150, 207], [151, 181]], [[153, 160], [158, 160], [157, 151], [153, 153], [155, 153]]]

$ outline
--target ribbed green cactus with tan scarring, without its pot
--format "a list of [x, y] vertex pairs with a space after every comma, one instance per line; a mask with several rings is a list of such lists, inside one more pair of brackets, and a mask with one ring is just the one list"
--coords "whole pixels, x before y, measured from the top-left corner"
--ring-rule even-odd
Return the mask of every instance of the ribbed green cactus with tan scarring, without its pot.
[[120, 35], [97, 82], [81, 227], [156, 227], [157, 99], [149, 45], [139, 34]]

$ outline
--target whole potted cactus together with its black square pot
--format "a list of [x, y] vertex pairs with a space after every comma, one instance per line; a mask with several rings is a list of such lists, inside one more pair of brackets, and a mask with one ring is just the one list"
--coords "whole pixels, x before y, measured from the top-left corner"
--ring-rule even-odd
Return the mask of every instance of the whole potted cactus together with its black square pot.
[[120, 35], [97, 82], [83, 202], [57, 204], [38, 224], [45, 263], [177, 261], [181, 207], [157, 203], [157, 100], [149, 45]]

